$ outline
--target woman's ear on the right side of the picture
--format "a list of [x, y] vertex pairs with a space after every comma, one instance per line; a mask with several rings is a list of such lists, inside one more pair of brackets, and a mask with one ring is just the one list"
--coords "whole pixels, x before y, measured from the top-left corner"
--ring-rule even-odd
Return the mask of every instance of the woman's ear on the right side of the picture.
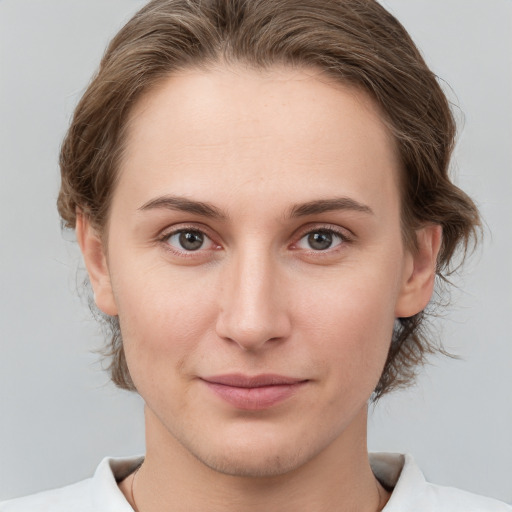
[[403, 282], [395, 306], [396, 318], [407, 318], [423, 311], [434, 291], [437, 255], [442, 228], [428, 225], [416, 231], [417, 249], [407, 250]]

